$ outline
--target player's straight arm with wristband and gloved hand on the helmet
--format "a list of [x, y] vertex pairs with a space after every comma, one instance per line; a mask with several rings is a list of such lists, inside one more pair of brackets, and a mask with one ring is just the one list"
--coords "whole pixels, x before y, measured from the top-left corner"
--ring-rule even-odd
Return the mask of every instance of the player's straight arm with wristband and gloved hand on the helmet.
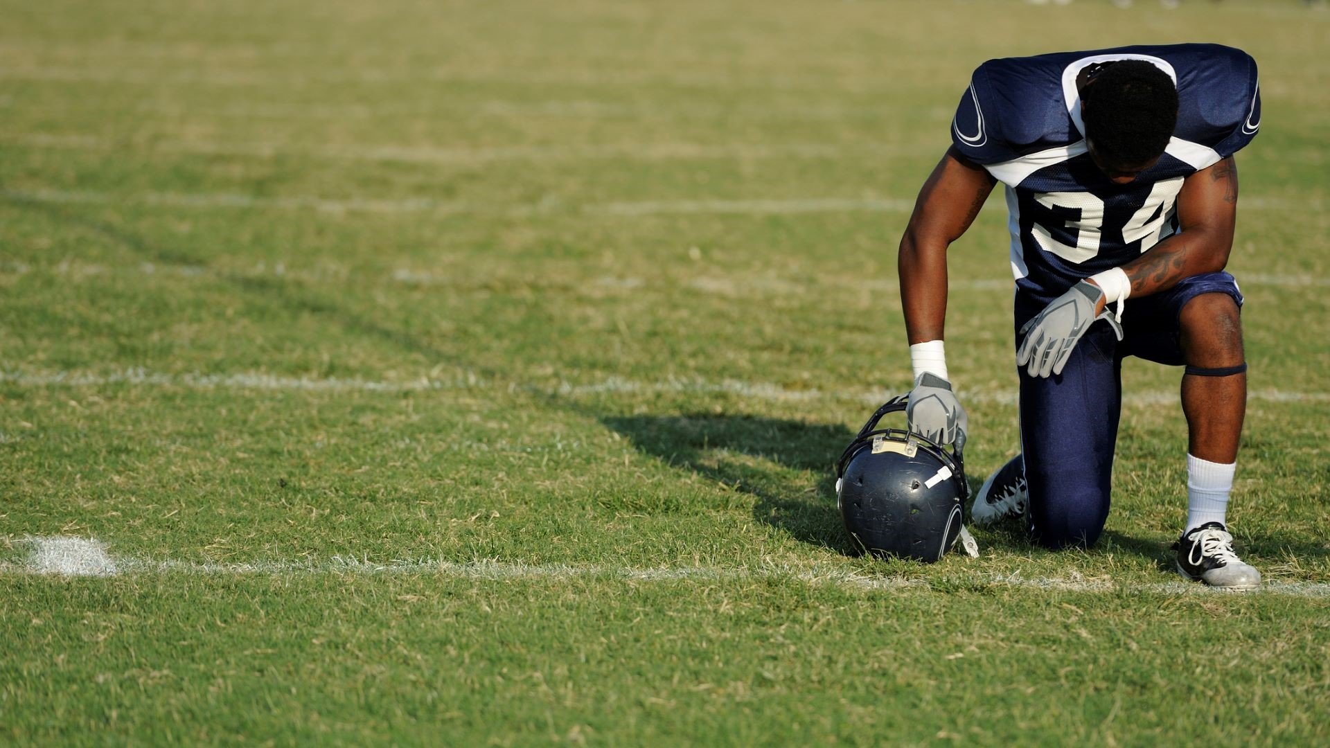
[[900, 238], [896, 270], [915, 386], [910, 430], [939, 443], [964, 445], [967, 417], [948, 381], [943, 351], [947, 317], [947, 248], [974, 222], [996, 180], [983, 166], [947, 150], [919, 190]]

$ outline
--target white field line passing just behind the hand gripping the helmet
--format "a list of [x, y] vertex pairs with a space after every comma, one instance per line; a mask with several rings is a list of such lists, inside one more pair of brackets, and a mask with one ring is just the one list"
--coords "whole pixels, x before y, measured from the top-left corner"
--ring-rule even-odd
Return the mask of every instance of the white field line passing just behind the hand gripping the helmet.
[[[561, 382], [555, 386], [523, 383], [515, 381], [488, 381], [473, 371], [463, 371], [451, 379], [422, 377], [399, 382], [386, 382], [359, 378], [317, 378], [281, 377], [263, 373], [237, 374], [166, 374], [146, 369], [125, 369], [104, 374], [90, 371], [25, 371], [0, 370], [0, 385], [21, 387], [98, 387], [108, 385], [128, 385], [136, 387], [182, 387], [194, 390], [277, 390], [277, 391], [366, 391], [366, 393], [408, 393], [446, 390], [508, 390], [541, 393], [563, 397], [591, 397], [614, 394], [728, 394], [765, 401], [818, 401], [851, 399], [868, 403], [883, 403], [899, 394], [890, 390], [846, 389], [790, 389], [774, 382], [745, 382], [739, 379], [710, 381], [702, 378], [666, 378], [658, 381], [626, 379], [608, 377], [592, 383]], [[962, 390], [966, 402], [988, 405], [1016, 405], [1016, 390]], [[1253, 389], [1248, 393], [1249, 402], [1273, 403], [1325, 403], [1330, 393], [1287, 391], [1277, 389]], [[1178, 402], [1176, 390], [1128, 391], [1123, 395], [1125, 406], [1158, 406]]]

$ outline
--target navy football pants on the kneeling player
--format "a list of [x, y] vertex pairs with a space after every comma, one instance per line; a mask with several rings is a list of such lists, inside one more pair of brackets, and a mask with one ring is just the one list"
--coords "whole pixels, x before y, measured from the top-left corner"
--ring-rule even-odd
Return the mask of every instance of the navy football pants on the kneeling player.
[[[1205, 293], [1226, 293], [1242, 306], [1233, 276], [1192, 276], [1165, 293], [1128, 298], [1121, 342], [1108, 322], [1100, 321], [1072, 349], [1061, 374], [1040, 378], [1019, 369], [1020, 441], [1035, 542], [1061, 548], [1099, 539], [1108, 519], [1123, 358], [1184, 365], [1178, 314]], [[1016, 294], [1017, 346], [1021, 325], [1043, 307], [1043, 302]]]

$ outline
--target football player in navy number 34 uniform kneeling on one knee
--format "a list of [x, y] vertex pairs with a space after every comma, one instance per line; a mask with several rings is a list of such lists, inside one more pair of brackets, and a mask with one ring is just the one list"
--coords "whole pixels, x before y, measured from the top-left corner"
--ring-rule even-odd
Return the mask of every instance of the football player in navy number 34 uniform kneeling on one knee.
[[[910, 429], [964, 439], [943, 347], [947, 246], [998, 182], [1009, 212], [1021, 454], [984, 482], [978, 523], [1023, 518], [1049, 548], [1104, 530], [1128, 355], [1182, 367], [1188, 519], [1177, 568], [1226, 590], [1261, 575], [1225, 526], [1246, 405], [1242, 294], [1224, 272], [1257, 133], [1256, 63], [1213, 44], [990, 60], [900, 241], [915, 385]], [[1178, 455], [1181, 458], [1181, 455]]]

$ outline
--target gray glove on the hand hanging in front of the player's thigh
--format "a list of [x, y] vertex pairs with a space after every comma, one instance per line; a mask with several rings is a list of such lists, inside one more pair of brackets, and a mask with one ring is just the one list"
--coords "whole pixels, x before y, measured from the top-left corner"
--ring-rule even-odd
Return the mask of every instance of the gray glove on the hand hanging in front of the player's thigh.
[[1051, 301], [1020, 329], [1025, 339], [1016, 350], [1016, 366], [1025, 366], [1031, 377], [1061, 374], [1076, 342], [1096, 319], [1108, 319], [1117, 339], [1123, 339], [1123, 326], [1108, 306], [1095, 315], [1095, 306], [1103, 295], [1104, 290], [1095, 283], [1080, 281]]

